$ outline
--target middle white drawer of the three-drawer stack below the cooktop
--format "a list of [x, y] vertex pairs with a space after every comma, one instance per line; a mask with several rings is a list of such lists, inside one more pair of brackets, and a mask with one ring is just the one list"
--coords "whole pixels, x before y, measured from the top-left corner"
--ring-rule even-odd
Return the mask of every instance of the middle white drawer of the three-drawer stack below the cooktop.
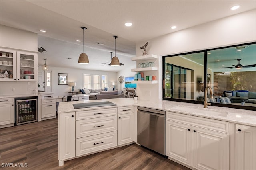
[[117, 116], [76, 121], [76, 138], [117, 131]]

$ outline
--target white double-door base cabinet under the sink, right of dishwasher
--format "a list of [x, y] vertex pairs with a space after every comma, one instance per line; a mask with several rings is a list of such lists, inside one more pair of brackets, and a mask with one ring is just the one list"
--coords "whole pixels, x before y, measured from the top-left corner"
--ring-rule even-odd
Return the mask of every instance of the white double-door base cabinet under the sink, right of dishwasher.
[[229, 123], [166, 112], [166, 156], [196, 169], [229, 168]]

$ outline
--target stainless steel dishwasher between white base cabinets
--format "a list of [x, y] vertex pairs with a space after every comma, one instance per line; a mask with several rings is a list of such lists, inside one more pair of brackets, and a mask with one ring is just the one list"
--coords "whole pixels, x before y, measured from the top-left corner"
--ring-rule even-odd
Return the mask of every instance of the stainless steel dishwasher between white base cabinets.
[[165, 156], [165, 111], [138, 107], [138, 143]]

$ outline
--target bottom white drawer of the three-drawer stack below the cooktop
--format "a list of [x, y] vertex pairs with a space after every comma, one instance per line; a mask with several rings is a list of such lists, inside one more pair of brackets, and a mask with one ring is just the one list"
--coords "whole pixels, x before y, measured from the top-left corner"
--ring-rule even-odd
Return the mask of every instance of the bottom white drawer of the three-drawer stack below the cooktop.
[[117, 131], [76, 139], [76, 156], [117, 146]]

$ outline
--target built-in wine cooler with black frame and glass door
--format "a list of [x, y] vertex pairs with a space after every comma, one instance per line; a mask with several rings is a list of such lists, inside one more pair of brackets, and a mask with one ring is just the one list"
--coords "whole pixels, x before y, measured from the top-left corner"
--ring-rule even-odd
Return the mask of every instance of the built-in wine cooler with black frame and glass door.
[[15, 98], [15, 124], [38, 121], [38, 97]]

